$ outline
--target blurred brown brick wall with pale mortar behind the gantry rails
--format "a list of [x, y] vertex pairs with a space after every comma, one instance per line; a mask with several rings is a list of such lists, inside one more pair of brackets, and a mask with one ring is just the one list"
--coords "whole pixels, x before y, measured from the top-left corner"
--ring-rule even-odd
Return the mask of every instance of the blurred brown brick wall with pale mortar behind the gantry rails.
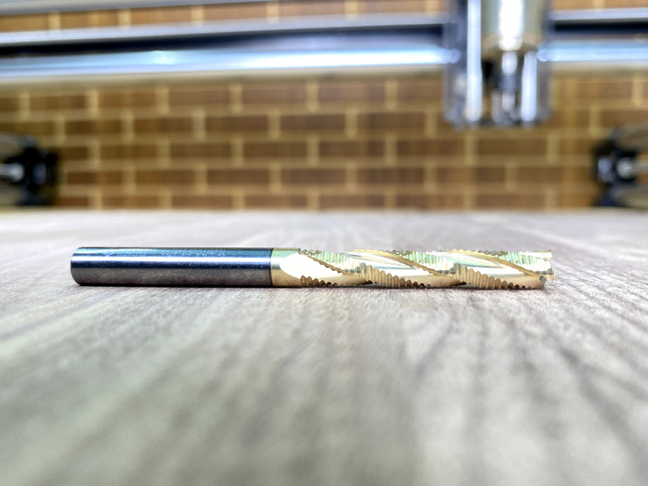
[[[628, 3], [628, 2], [626, 2]], [[640, 2], [635, 2], [640, 3]], [[437, 11], [442, 1], [333, 0], [66, 12], [0, 28]], [[556, 1], [556, 7], [618, 2]], [[556, 75], [533, 129], [456, 131], [438, 74], [215, 79], [0, 92], [0, 131], [60, 153], [60, 206], [562, 208], [588, 206], [593, 144], [648, 120], [648, 74]]]

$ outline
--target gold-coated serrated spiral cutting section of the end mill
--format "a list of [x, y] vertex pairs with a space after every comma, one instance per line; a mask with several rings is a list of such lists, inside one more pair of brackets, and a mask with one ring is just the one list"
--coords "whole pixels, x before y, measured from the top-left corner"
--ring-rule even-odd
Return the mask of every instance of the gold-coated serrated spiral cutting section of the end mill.
[[555, 280], [550, 251], [375, 251], [273, 253], [276, 286], [540, 288]]

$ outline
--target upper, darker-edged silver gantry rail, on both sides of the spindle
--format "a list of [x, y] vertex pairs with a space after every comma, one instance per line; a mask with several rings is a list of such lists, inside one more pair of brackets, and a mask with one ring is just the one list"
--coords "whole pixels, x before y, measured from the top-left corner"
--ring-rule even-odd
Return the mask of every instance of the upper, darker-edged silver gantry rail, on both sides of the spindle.
[[[44, 1], [44, 0], [40, 0]], [[85, 1], [85, 0], [83, 0]], [[235, 0], [222, 0], [235, 1]], [[13, 3], [13, 2], [10, 2]], [[0, 8], [2, 6], [0, 0]], [[1, 12], [1, 10], [0, 10]], [[607, 10], [558, 10], [549, 15], [554, 28], [552, 37], [590, 37], [596, 35], [629, 37], [648, 34], [648, 8], [617, 8]], [[108, 26], [72, 28], [56, 31], [23, 31], [0, 33], [0, 53], [37, 53], [39, 49], [53, 51], [57, 47], [74, 49], [93, 44], [111, 48], [118, 43], [163, 42], [206, 38], [319, 31], [367, 31], [380, 29], [427, 28], [438, 35], [448, 14], [369, 14], [354, 18], [343, 15], [282, 19], [270, 23], [265, 19], [207, 22], [204, 24], [154, 24], [144, 26]], [[611, 30], [610, 30], [611, 29]]]

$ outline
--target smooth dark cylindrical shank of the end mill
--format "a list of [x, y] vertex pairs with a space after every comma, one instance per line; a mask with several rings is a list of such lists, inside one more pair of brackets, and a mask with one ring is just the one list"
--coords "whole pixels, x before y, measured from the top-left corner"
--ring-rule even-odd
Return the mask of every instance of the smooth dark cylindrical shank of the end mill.
[[268, 287], [270, 248], [79, 248], [72, 278], [81, 285]]

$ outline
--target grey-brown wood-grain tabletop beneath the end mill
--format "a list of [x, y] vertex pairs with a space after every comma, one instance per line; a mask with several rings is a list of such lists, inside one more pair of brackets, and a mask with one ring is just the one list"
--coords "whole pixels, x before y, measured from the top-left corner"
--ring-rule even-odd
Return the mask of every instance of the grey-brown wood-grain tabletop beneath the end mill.
[[[645, 485], [647, 223], [0, 213], [1, 484]], [[558, 282], [79, 287], [84, 245], [550, 248]]]

